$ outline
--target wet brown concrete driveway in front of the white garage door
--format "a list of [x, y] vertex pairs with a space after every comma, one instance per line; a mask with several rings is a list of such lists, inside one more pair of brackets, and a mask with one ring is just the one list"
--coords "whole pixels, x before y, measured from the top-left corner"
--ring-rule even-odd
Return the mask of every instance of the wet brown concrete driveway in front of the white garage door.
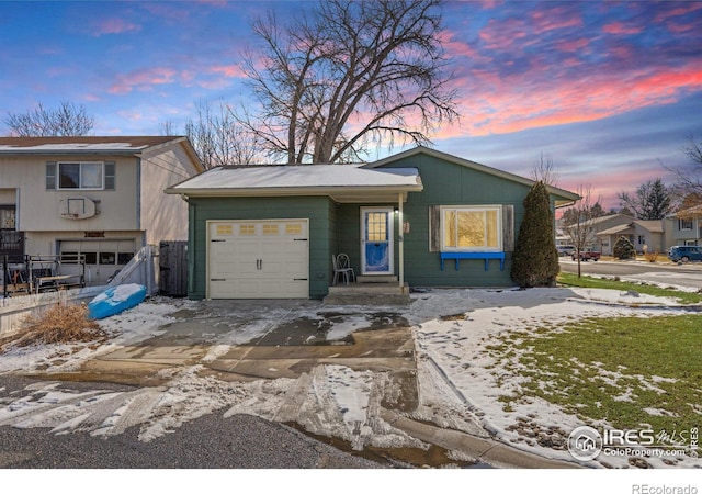
[[[272, 310], [286, 312], [271, 317]], [[361, 307], [359, 307], [361, 308]], [[315, 317], [309, 314], [315, 313]], [[298, 378], [325, 363], [353, 370], [383, 371], [400, 390], [399, 411], [417, 405], [417, 368], [411, 327], [399, 312], [343, 312], [317, 301], [202, 301], [196, 310], [172, 314], [176, 322], [160, 336], [125, 346], [87, 361], [71, 380], [160, 385], [169, 369], [202, 366], [201, 375], [223, 381]], [[254, 319], [268, 324], [262, 336], [225, 345], [237, 327]], [[332, 326], [353, 324], [341, 339], [329, 339]]]

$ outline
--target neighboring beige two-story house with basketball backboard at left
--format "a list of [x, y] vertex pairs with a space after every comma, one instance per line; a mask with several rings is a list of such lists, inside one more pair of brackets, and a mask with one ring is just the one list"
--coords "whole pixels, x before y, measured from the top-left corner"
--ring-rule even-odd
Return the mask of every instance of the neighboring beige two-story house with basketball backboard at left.
[[80, 255], [102, 283], [188, 238], [188, 204], [163, 190], [202, 171], [185, 137], [0, 137], [0, 256]]

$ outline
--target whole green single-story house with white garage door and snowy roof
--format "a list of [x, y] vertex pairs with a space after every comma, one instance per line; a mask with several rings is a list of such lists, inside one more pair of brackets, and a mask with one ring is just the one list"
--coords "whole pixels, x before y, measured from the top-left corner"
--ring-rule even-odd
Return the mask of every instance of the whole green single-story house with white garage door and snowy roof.
[[[166, 190], [189, 204], [191, 299], [321, 299], [352, 282], [510, 287], [533, 181], [417, 147], [364, 165], [218, 167]], [[550, 188], [554, 209], [579, 197]]]

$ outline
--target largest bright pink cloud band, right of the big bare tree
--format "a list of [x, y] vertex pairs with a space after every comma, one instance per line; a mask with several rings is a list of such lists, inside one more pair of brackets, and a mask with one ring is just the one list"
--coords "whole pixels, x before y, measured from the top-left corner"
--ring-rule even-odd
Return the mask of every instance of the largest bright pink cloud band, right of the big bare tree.
[[[522, 77], [524, 77], [522, 79]], [[438, 138], [507, 134], [528, 128], [590, 122], [638, 108], [667, 104], [702, 90], [702, 64], [650, 72], [596, 72], [569, 81], [537, 79], [529, 75], [500, 78], [472, 71], [455, 80], [465, 99], [462, 125], [442, 127]]]

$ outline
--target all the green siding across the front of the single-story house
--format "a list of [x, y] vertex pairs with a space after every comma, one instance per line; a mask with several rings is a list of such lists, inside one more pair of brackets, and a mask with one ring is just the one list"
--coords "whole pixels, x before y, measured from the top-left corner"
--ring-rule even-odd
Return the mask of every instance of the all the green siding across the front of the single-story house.
[[[512, 287], [511, 252], [505, 269], [491, 260], [448, 260], [441, 271], [440, 255], [430, 251], [429, 211], [435, 205], [512, 205], [513, 237], [524, 216], [523, 200], [530, 186], [497, 177], [426, 154], [416, 154], [384, 165], [384, 168], [417, 168], [424, 190], [410, 192], [404, 204], [404, 221], [410, 225], [405, 239], [405, 280], [412, 287]], [[333, 272], [331, 255], [346, 252], [356, 274], [361, 271], [361, 207], [396, 206], [396, 203], [336, 204], [325, 197], [291, 198], [191, 198], [190, 199], [189, 294], [205, 296], [205, 240], [207, 220], [309, 218], [309, 295], [324, 297]], [[399, 272], [399, 242], [403, 232], [395, 220], [395, 274]]]

